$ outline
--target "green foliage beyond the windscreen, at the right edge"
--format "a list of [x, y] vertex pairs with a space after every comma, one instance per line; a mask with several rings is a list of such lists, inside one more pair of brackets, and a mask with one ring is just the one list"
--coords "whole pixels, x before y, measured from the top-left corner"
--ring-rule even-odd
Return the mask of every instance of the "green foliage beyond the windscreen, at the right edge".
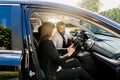
[[120, 7], [103, 11], [100, 14], [117, 23], [120, 23]]

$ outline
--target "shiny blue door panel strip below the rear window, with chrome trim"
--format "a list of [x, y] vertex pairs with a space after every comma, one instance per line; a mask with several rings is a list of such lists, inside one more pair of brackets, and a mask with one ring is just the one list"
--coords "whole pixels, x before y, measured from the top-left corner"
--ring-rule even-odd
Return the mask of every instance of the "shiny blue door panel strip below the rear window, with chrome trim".
[[0, 65], [2, 66], [19, 66], [22, 60], [21, 51], [0, 50]]

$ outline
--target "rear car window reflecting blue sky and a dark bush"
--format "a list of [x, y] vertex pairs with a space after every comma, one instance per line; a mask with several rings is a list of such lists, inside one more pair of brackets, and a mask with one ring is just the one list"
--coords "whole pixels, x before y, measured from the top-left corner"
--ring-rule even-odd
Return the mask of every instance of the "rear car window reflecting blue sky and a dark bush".
[[0, 7], [0, 50], [11, 50], [11, 7]]

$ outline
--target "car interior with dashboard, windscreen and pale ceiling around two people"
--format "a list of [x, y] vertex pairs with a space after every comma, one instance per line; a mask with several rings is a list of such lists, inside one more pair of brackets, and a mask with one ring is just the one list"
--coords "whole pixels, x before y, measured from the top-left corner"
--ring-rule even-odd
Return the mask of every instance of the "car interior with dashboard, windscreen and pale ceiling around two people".
[[[39, 40], [38, 28], [45, 21], [50, 21], [55, 25], [58, 21], [65, 23], [67, 34], [73, 36], [73, 39], [69, 40], [69, 43], [72, 42], [75, 44], [76, 52], [72, 57], [78, 58], [82, 67], [95, 80], [120, 79], [120, 69], [118, 69], [120, 65], [118, 53], [120, 53], [120, 50], [116, 49], [118, 46], [115, 47], [115, 43], [113, 43], [114, 40], [120, 43], [120, 39], [99, 28], [99, 26], [103, 25], [97, 24], [98, 21], [92, 22], [91, 19], [84, 19], [83, 17], [76, 18], [75, 16], [53, 12], [32, 12], [30, 23], [35, 46]], [[85, 42], [80, 37], [82, 30], [88, 36]], [[59, 48], [57, 50], [61, 53], [65, 49]]]

